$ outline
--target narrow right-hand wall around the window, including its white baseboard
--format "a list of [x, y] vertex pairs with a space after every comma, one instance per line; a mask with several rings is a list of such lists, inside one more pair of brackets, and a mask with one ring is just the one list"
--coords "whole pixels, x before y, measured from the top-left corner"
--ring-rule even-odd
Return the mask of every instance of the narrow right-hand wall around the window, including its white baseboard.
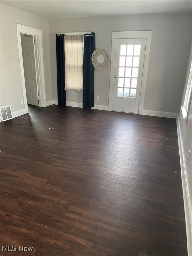
[[[183, 91], [183, 97], [181, 101], [181, 106], [183, 106], [185, 93], [187, 89], [187, 82], [189, 77], [189, 71], [191, 67], [191, 53], [189, 54], [189, 63], [185, 81], [185, 87]], [[192, 152], [192, 106], [190, 104], [190, 111], [187, 122], [183, 120], [182, 111], [180, 110], [178, 116], [178, 138], [180, 144], [180, 157], [181, 161], [181, 171], [182, 171], [182, 182], [183, 182], [183, 191], [184, 191], [184, 205], [185, 205], [185, 221], [186, 221], [186, 230], [187, 230], [187, 242], [188, 242], [188, 255], [192, 255], [192, 153], [188, 159], [189, 150]]]

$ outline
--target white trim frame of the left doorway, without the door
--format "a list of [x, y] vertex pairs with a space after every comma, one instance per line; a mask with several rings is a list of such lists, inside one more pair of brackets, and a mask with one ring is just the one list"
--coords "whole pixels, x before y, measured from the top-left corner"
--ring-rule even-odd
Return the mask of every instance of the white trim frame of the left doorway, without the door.
[[28, 107], [27, 107], [27, 95], [26, 95], [26, 88], [25, 88], [25, 75], [24, 75], [23, 56], [22, 56], [22, 47], [21, 47], [21, 34], [34, 36], [35, 49], [36, 49], [35, 60], [36, 60], [36, 71], [37, 71], [36, 72], [37, 85], [38, 85], [38, 91], [39, 91], [39, 106], [46, 107], [42, 30], [28, 27], [21, 24], [16, 24], [16, 25], [17, 25], [17, 40], [18, 40], [19, 61], [20, 61], [20, 68], [21, 68], [23, 100], [24, 100], [24, 108], [25, 108], [25, 114], [26, 114], [28, 113]]

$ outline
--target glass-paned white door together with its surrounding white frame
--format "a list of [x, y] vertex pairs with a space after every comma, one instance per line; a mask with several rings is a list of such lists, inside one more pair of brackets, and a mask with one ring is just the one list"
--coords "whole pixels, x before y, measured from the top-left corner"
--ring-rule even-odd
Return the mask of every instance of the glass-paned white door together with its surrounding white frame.
[[152, 31], [111, 33], [108, 109], [142, 114]]

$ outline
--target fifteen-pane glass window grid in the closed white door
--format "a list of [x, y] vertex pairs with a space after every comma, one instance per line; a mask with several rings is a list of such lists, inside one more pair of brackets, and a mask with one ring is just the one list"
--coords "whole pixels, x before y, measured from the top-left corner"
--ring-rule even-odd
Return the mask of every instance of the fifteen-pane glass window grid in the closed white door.
[[[117, 97], [136, 97], [140, 50], [141, 45], [121, 45], [120, 47]], [[127, 83], [125, 84], [127, 80], [128, 86]]]

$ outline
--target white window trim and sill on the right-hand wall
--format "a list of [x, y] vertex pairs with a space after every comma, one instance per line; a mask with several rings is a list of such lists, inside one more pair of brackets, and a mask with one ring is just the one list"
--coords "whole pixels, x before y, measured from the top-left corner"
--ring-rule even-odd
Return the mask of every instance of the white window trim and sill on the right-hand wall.
[[187, 121], [188, 116], [189, 116], [191, 95], [192, 95], [192, 62], [191, 62], [191, 68], [189, 71], [189, 77], [188, 77], [188, 82], [187, 82], [187, 89], [186, 89], [186, 93], [185, 93], [184, 104], [183, 104], [183, 106], [181, 106], [183, 119], [185, 121]]

